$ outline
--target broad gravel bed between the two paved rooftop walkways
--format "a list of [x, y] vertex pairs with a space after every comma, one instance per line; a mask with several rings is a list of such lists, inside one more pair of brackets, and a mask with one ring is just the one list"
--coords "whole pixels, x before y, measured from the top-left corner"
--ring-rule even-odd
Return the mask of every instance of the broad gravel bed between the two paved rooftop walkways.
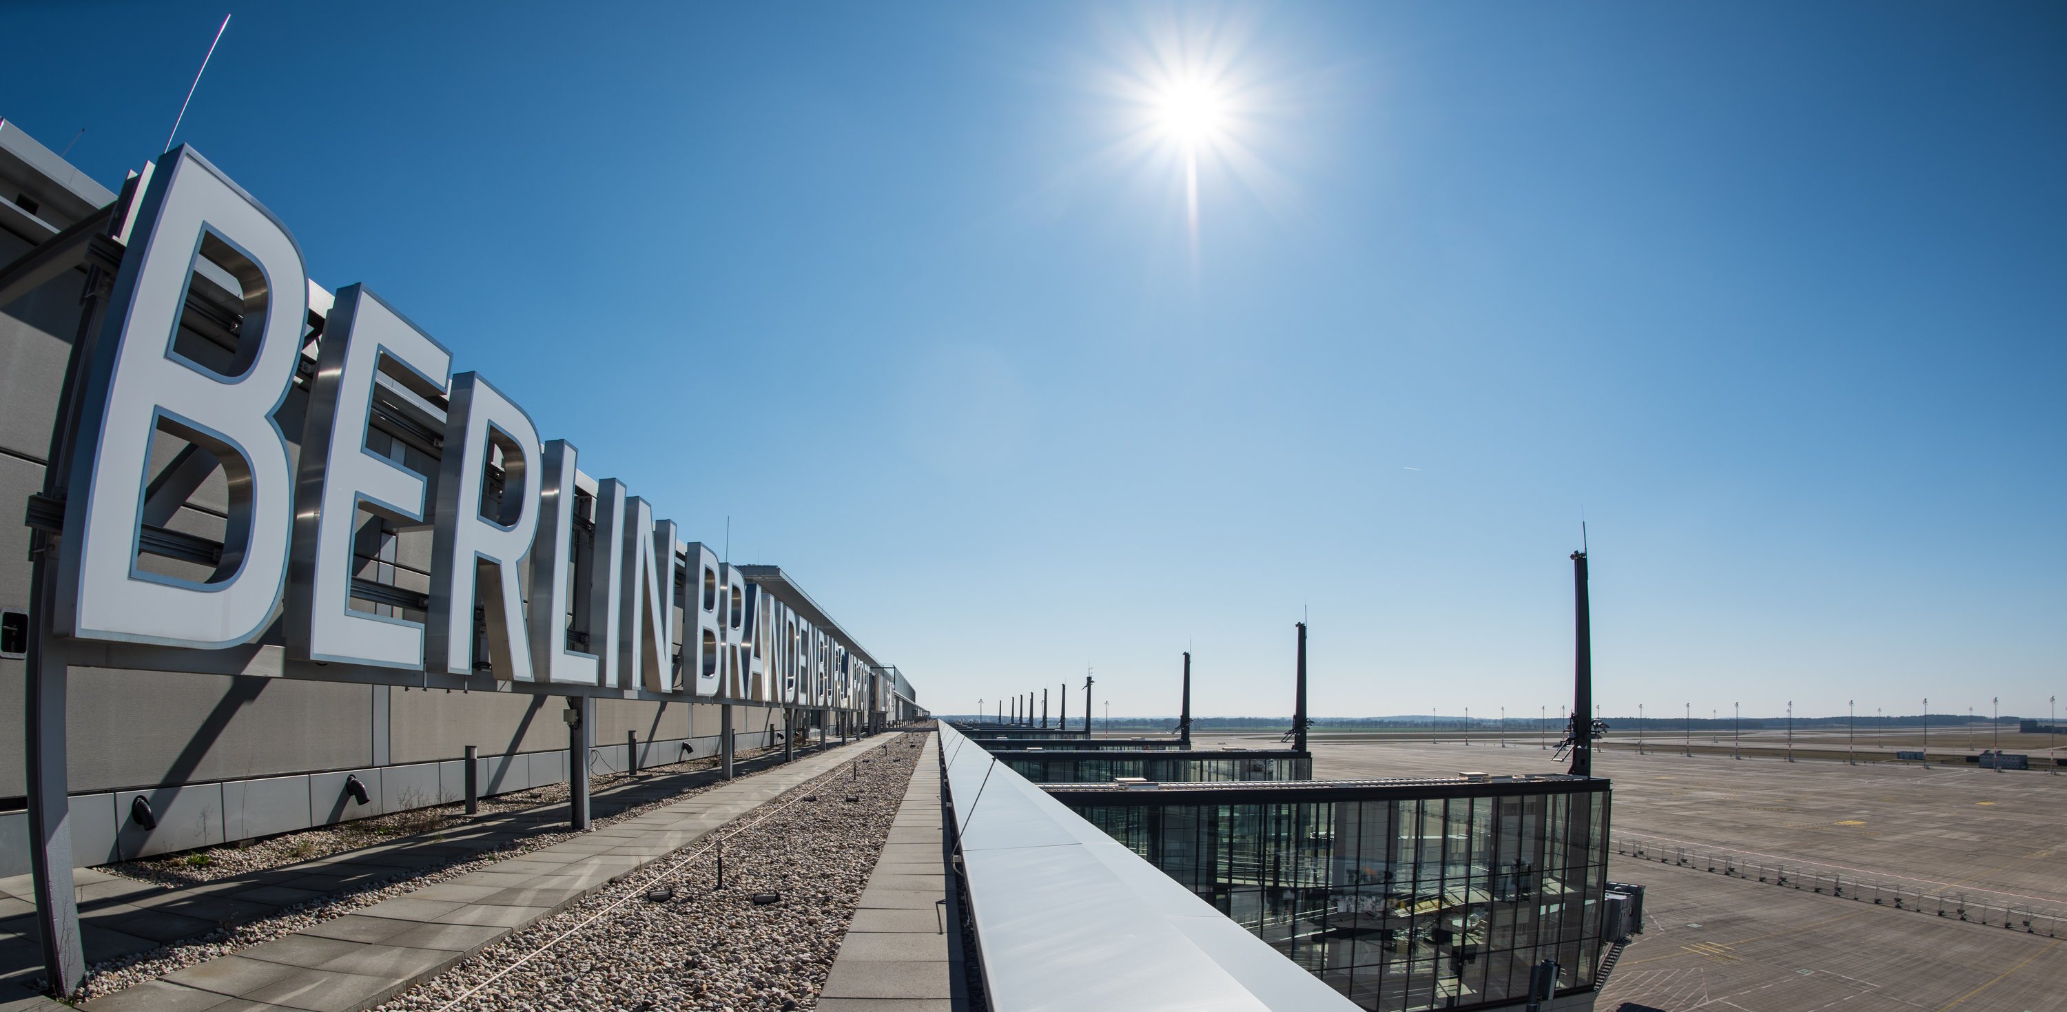
[[380, 1012], [814, 1008], [920, 754], [891, 741], [812, 779]]

